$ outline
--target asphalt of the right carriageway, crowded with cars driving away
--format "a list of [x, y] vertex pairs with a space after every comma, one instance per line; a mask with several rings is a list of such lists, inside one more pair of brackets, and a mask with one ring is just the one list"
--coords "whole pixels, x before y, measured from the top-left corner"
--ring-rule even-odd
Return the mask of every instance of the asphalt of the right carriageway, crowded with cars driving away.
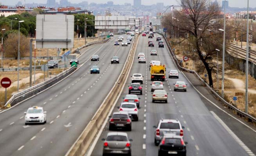
[[[140, 37], [137, 51], [135, 54], [134, 64], [130, 75], [133, 73], [141, 73], [144, 75], [143, 95], [140, 97], [139, 121], [132, 122], [132, 131], [127, 132], [129, 138], [133, 139], [132, 156], [157, 156], [158, 147], [154, 144], [154, 125], [157, 125], [160, 119], [178, 119], [184, 129], [184, 140], [188, 142], [188, 156], [245, 156], [254, 154], [253, 149], [247, 148], [245, 144], [237, 137], [236, 134], [225, 124], [218, 115], [215, 108], [206, 107], [205, 101], [189, 84], [182, 73], [179, 73], [179, 79], [169, 79], [168, 72], [170, 69], [177, 69], [166, 46], [164, 48], [156, 47], [156, 35], [153, 40], [155, 47], [148, 47], [147, 41], [150, 40], [144, 36]], [[166, 43], [165, 43], [166, 45]], [[158, 56], [150, 56], [151, 50], [157, 50]], [[139, 64], [138, 53], [145, 53], [147, 63]], [[159, 60], [166, 65], [166, 81], [164, 89], [168, 94], [168, 103], [152, 103], [152, 92], [150, 84], [149, 62], [151, 60]], [[184, 81], [188, 84], [187, 92], [174, 92], [173, 83], [176, 81]], [[113, 110], [118, 112], [117, 106], [123, 101], [122, 97], [128, 94], [128, 87], [131, 84], [131, 77], [127, 80], [125, 88]], [[214, 110], [214, 111], [213, 111]], [[220, 111], [221, 112], [221, 111]], [[224, 115], [223, 115], [224, 116]], [[242, 127], [239, 122], [233, 124], [233, 128]], [[109, 132], [109, 124], [107, 122], [100, 134], [100, 137], [93, 149], [91, 156], [101, 156], [103, 149], [103, 141]], [[255, 136], [255, 132], [248, 130], [248, 136]], [[250, 139], [251, 145], [255, 145], [255, 138]]]

